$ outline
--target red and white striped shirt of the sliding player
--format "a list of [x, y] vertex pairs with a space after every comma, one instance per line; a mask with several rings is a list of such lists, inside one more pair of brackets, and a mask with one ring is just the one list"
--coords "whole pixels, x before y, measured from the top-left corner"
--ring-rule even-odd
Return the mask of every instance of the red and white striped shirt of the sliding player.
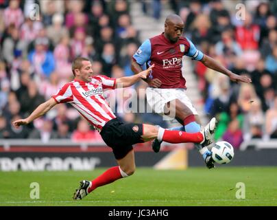
[[101, 131], [109, 120], [116, 118], [103, 96], [104, 89], [115, 89], [116, 79], [99, 75], [90, 83], [73, 80], [65, 84], [52, 98], [57, 103], [69, 102], [95, 129]]

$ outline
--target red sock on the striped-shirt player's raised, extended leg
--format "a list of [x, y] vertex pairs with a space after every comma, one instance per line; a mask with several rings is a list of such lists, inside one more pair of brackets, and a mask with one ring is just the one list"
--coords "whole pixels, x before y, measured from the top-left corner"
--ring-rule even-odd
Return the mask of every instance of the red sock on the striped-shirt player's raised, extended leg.
[[165, 133], [162, 136], [162, 140], [172, 144], [186, 143], [186, 142], [200, 143], [203, 140], [203, 135], [200, 132], [187, 133], [184, 131], [165, 130]]

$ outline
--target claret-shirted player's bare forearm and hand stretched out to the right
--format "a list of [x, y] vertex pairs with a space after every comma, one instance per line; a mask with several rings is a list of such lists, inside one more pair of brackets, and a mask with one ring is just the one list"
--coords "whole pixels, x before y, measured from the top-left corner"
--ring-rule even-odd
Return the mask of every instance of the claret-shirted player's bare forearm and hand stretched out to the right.
[[252, 80], [248, 76], [239, 76], [237, 74], [234, 74], [233, 72], [230, 72], [230, 70], [226, 69], [223, 65], [215, 61], [215, 59], [211, 58], [210, 56], [207, 56], [204, 54], [201, 62], [208, 68], [214, 69], [217, 72], [221, 72], [222, 74], [225, 74], [226, 76], [230, 77], [230, 80], [232, 80], [235, 83], [251, 83]]

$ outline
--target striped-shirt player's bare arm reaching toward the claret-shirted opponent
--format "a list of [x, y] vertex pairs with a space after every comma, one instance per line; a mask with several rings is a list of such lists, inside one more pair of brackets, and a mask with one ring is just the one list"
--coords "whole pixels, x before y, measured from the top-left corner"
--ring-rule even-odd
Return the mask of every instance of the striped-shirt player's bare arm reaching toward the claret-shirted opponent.
[[153, 67], [154, 65], [152, 65], [148, 69], [145, 69], [144, 71], [139, 72], [139, 74], [136, 74], [134, 76], [126, 76], [126, 77], [118, 78], [116, 87], [117, 88], [130, 87], [131, 85], [134, 85], [134, 83], [138, 82], [139, 80], [147, 78], [147, 76], [150, 74]]

